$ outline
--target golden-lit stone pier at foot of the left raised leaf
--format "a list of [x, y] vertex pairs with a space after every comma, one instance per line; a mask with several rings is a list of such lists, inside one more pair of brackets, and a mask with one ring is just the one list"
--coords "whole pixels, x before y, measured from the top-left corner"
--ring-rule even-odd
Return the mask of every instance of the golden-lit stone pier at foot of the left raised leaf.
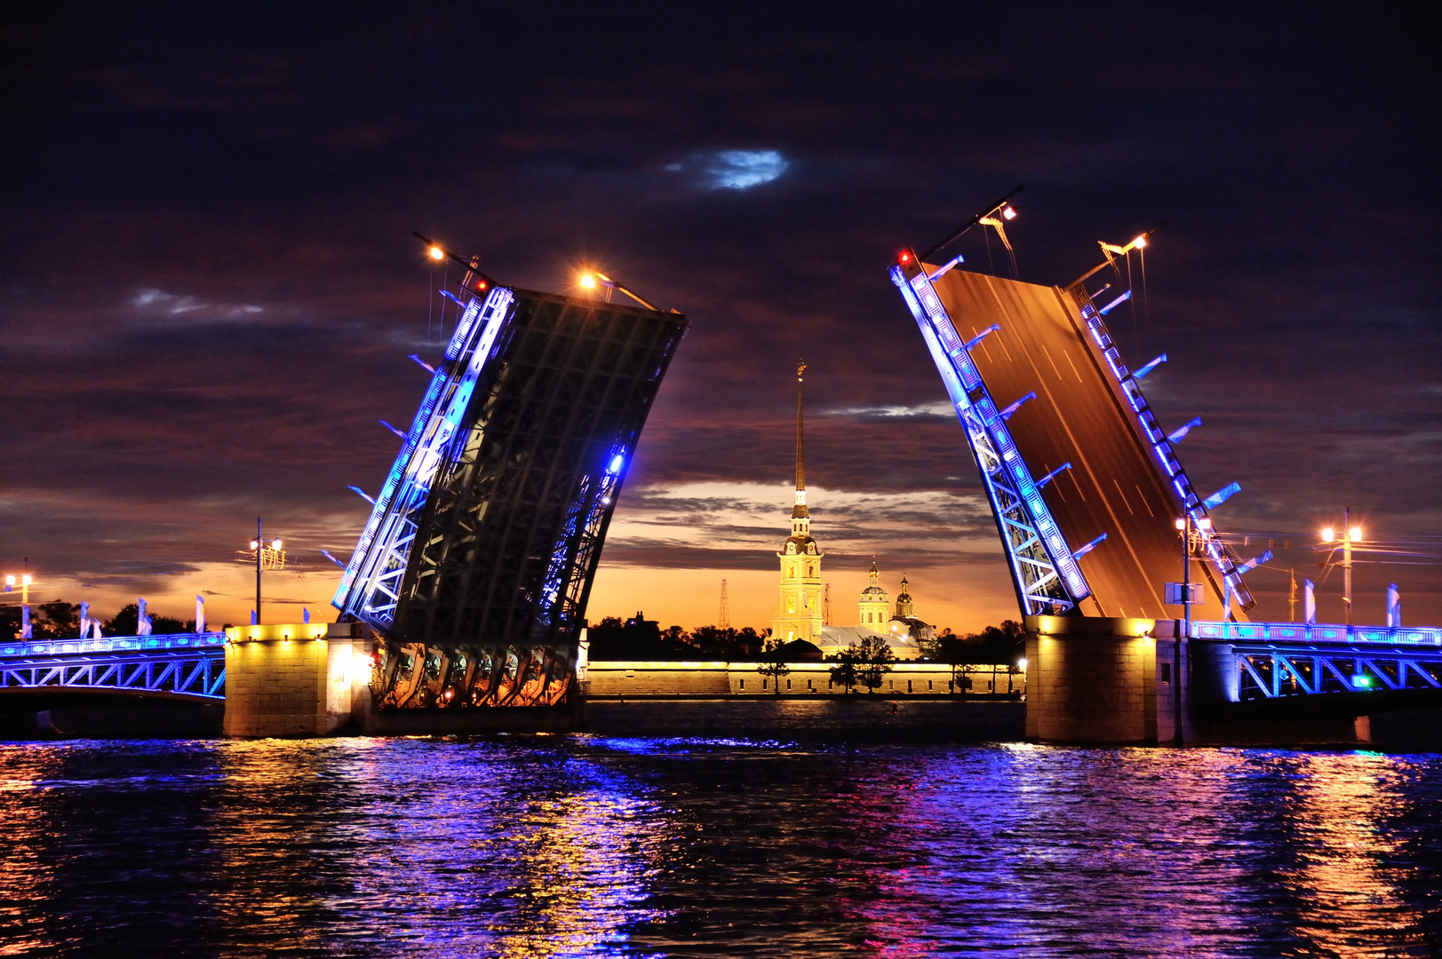
[[352, 731], [371, 679], [362, 623], [288, 623], [226, 630], [225, 734], [309, 737]]

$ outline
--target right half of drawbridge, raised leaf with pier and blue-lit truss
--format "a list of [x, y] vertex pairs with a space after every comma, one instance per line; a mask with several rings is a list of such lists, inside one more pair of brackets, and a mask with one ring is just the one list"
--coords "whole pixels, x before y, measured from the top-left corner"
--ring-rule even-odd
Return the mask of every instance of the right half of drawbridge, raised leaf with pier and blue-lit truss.
[[[1028, 735], [1338, 741], [1366, 738], [1358, 717], [1373, 711], [1442, 704], [1442, 630], [1249, 622], [1243, 575], [1270, 552], [1243, 560], [1211, 516], [1240, 486], [1193, 487], [1177, 447], [1200, 420], [1168, 433], [1142, 392], [1165, 353], [1133, 369], [1106, 326], [1132, 296], [1126, 257], [1151, 234], [1100, 244], [1096, 268], [1056, 287], [945, 255], [972, 228], [996, 229], [1009, 249], [1014, 195], [932, 249], [903, 251], [890, 274], [956, 410], [1034, 633]], [[1193, 573], [1200, 590], [1185, 588]]]

